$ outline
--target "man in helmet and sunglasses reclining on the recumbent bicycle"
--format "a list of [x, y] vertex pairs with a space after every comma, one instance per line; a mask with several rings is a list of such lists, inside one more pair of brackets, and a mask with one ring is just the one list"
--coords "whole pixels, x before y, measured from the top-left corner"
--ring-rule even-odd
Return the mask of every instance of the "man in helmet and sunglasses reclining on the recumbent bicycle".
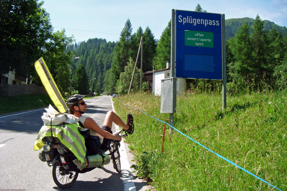
[[79, 118], [79, 121], [84, 125], [85, 128], [93, 130], [96, 136], [101, 139], [101, 144], [105, 145], [109, 139], [115, 139], [121, 141], [120, 135], [113, 135], [111, 131], [112, 123], [123, 127], [126, 131], [131, 131], [133, 127], [133, 116], [127, 114], [127, 123], [124, 123], [121, 118], [113, 111], [108, 111], [104, 119], [102, 128], [90, 117], [84, 117], [82, 114], [87, 111], [87, 104], [83, 100], [85, 95], [75, 94], [69, 97], [66, 104], [69, 108], [69, 113]]

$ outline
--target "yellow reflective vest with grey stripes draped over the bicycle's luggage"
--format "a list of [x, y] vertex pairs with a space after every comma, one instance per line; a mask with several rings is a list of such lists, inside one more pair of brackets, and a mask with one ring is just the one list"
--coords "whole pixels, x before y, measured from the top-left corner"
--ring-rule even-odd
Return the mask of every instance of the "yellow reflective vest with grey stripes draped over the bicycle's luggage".
[[86, 156], [85, 139], [79, 133], [79, 125], [73, 124], [62, 124], [62, 125], [43, 125], [38, 133], [38, 137], [35, 141], [34, 150], [40, 150], [44, 141], [44, 137], [51, 137], [51, 131], [53, 137], [57, 137], [59, 141], [65, 145], [81, 162], [84, 163]]

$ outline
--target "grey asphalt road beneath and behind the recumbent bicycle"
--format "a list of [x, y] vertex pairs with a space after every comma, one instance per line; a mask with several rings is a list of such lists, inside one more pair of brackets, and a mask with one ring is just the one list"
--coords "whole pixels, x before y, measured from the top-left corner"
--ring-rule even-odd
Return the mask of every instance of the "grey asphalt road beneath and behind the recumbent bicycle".
[[[86, 99], [91, 117], [101, 127], [105, 114], [113, 110], [110, 96]], [[38, 158], [33, 149], [37, 134], [43, 125], [44, 109], [34, 109], [0, 115], [0, 189], [61, 190], [53, 181], [52, 167]], [[126, 119], [123, 119], [125, 121]], [[112, 127], [115, 132], [115, 127]], [[132, 135], [130, 135], [132, 136]], [[112, 162], [104, 168], [79, 174], [73, 186], [65, 190], [147, 190], [146, 182], [136, 178], [130, 166], [132, 155], [121, 142], [121, 166], [119, 174]]]

